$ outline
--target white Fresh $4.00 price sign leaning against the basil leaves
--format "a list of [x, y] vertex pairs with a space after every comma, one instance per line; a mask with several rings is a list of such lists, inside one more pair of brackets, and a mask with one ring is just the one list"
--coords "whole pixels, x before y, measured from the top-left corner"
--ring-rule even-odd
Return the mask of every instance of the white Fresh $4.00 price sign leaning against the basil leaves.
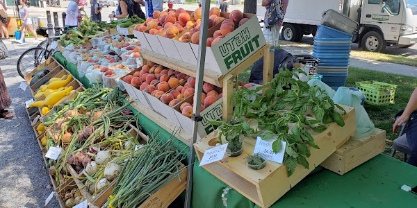
[[274, 150], [272, 150], [272, 143], [274, 143], [275, 140], [277, 139], [263, 140], [261, 139], [261, 137], [258, 137], [256, 139], [254, 153], [260, 153], [265, 157], [265, 159], [282, 164], [282, 160], [284, 159], [286, 142], [281, 141], [281, 151], [279, 151], [279, 153], [274, 153]]

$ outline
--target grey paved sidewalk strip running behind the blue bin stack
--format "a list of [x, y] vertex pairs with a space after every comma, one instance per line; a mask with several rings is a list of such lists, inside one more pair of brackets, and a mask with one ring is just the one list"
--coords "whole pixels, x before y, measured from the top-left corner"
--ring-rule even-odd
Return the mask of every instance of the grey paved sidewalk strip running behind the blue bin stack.
[[[285, 46], [282, 48], [289, 53], [295, 55], [311, 55], [313, 54], [313, 49], [304, 49], [293, 46]], [[362, 69], [370, 69], [374, 71], [382, 71], [386, 73], [397, 73], [406, 76], [417, 77], [417, 67], [411, 67], [402, 64], [393, 64], [389, 62], [380, 62], [375, 60], [366, 60], [362, 58], [352, 58], [350, 57], [350, 67], [359, 67]]]

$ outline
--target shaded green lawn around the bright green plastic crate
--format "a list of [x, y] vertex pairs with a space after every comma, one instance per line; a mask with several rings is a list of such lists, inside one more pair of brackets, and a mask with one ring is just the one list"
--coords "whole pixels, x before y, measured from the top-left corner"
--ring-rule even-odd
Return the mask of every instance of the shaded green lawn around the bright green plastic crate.
[[[250, 69], [240, 73], [238, 80], [247, 82], [250, 78]], [[411, 93], [417, 87], [417, 78], [412, 76], [404, 76], [395, 73], [385, 73], [379, 71], [372, 71], [368, 69], [360, 69], [357, 67], [349, 67], [349, 76], [347, 76], [346, 87], [356, 87], [356, 82], [375, 80], [382, 83], [390, 83], [398, 85], [395, 89], [395, 103], [391, 105], [371, 105], [365, 103], [363, 107], [371, 121], [373, 121], [375, 128], [386, 130], [386, 139], [394, 140], [398, 135], [393, 135], [392, 128], [395, 121], [395, 114], [404, 109], [407, 105]], [[386, 141], [384, 154], [390, 155], [392, 148], [391, 142]], [[395, 154], [395, 158], [402, 159], [402, 153]]]

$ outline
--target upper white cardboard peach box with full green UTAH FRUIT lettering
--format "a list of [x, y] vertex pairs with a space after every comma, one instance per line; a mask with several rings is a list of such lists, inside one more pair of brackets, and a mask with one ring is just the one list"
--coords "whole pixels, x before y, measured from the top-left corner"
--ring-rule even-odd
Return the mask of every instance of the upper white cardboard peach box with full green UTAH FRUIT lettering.
[[[249, 20], [214, 46], [206, 47], [206, 69], [226, 74], [266, 44], [256, 15], [243, 14], [243, 17]], [[213, 37], [219, 28], [220, 24], [210, 28], [208, 37]], [[198, 57], [198, 45], [190, 43], [190, 46]]]

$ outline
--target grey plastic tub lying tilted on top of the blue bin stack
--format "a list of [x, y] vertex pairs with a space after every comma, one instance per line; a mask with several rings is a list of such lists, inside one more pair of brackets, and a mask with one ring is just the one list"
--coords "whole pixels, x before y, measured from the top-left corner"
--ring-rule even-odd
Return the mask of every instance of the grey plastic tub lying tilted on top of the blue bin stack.
[[358, 26], [357, 21], [354, 21], [353, 19], [343, 15], [341, 12], [332, 9], [327, 10], [323, 14], [320, 24], [349, 34], [352, 34]]

